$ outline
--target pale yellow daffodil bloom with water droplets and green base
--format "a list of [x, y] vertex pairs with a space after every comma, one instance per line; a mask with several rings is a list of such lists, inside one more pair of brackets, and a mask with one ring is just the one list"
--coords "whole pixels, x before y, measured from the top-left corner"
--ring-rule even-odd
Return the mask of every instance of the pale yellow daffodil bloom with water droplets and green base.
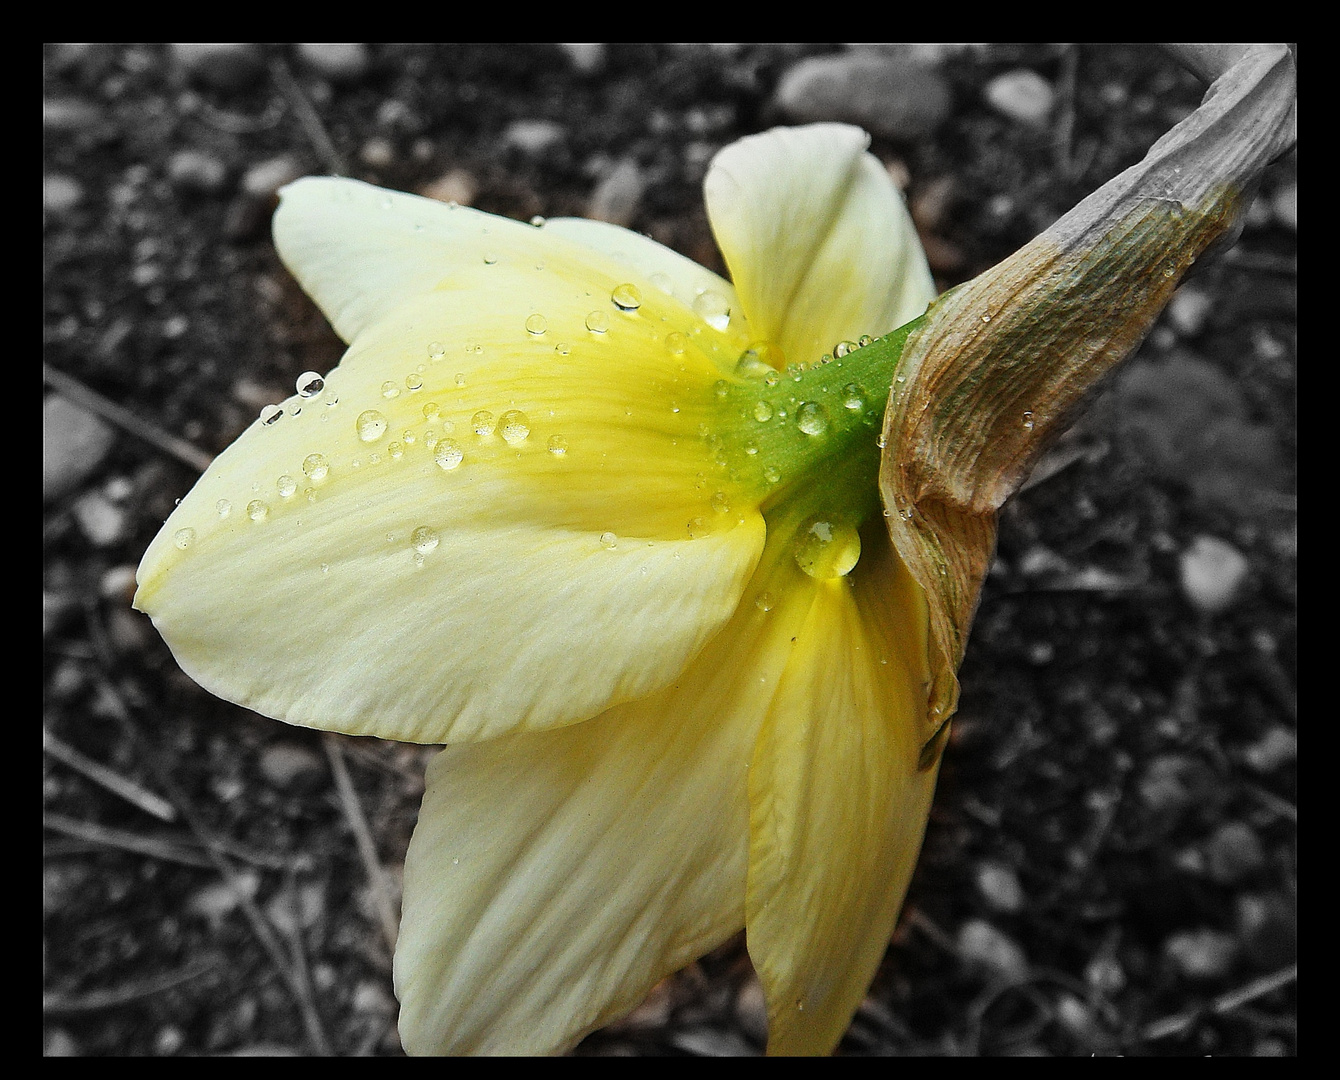
[[866, 993], [935, 725], [878, 512], [902, 335], [856, 347], [933, 289], [864, 147], [718, 154], [733, 285], [599, 222], [285, 189], [280, 255], [348, 352], [201, 477], [135, 603], [221, 697], [449, 744], [405, 867], [409, 1051], [561, 1051], [741, 927], [772, 1052], [831, 1051]]

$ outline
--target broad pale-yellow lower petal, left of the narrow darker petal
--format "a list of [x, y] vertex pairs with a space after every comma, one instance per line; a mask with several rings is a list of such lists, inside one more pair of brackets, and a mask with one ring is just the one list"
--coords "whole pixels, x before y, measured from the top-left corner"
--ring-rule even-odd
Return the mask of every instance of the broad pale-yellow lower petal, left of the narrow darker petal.
[[434, 760], [395, 955], [411, 1053], [565, 1049], [744, 925], [748, 762], [805, 618], [762, 590], [776, 557], [673, 686]]

